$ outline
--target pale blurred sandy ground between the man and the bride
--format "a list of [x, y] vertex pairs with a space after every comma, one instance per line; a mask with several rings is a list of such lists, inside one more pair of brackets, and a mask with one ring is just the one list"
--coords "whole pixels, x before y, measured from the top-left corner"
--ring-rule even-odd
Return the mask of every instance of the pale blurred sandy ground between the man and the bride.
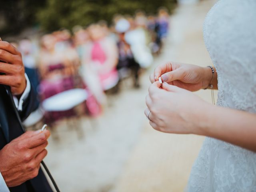
[[[211, 65], [202, 36], [204, 17], [216, 0], [177, 8], [163, 53], [141, 78], [112, 96], [111, 106], [93, 122], [81, 120], [84, 136], [70, 122], [56, 127], [45, 162], [62, 192], [179, 192], [204, 140], [202, 136], [164, 134], [150, 128], [144, 116], [148, 76], [157, 64], [175, 60]], [[209, 90], [196, 92], [211, 102]]]

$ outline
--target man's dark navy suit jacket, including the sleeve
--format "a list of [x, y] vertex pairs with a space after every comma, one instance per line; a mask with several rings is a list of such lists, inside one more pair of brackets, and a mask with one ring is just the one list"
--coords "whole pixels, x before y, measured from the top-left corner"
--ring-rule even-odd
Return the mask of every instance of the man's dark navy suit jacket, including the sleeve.
[[[12, 101], [12, 95], [6, 91], [5, 86], [0, 84], [0, 150], [11, 140], [23, 134], [22, 125], [16, 113], [17, 109]], [[19, 112], [20, 119], [26, 119], [35, 107], [36, 96], [31, 86], [30, 94], [22, 106], [22, 112]], [[34, 179], [9, 189], [11, 192], [52, 192], [41, 169]]]

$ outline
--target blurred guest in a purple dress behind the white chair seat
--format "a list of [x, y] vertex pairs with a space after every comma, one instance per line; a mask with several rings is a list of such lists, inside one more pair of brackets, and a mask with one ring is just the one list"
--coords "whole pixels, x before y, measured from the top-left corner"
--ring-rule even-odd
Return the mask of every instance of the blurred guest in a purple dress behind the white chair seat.
[[[48, 34], [42, 37], [42, 50], [40, 52], [40, 74], [41, 82], [39, 85], [40, 99], [43, 101], [65, 90], [75, 87], [72, 72], [66, 67], [69, 64], [64, 52], [56, 51], [56, 36]], [[52, 124], [59, 119], [67, 116], [74, 116], [73, 110], [64, 112], [46, 112], [45, 121]]]

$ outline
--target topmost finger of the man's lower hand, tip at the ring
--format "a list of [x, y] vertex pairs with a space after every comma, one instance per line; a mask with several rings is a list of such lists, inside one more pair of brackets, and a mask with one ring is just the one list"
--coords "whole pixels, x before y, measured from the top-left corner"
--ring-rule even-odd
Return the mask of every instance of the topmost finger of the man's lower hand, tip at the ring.
[[26, 146], [26, 148], [37, 147], [37, 146], [43, 144], [44, 142], [46, 142], [46, 140], [49, 138], [49, 136], [50, 136], [50, 132], [48, 130], [44, 130], [44, 131], [40, 132], [39, 134], [35, 134], [34, 136], [24, 140], [24, 142], [26, 142], [25, 146]]

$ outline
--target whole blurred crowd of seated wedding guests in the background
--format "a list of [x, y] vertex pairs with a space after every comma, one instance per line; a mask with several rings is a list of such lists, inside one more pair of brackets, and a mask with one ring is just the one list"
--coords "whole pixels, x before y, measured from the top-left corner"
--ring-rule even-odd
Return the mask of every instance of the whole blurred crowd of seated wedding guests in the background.
[[[108, 27], [100, 21], [84, 28], [74, 26], [45, 34], [40, 40], [23, 39], [13, 43], [22, 53], [26, 73], [38, 92], [40, 102], [60, 92], [84, 88], [88, 98], [84, 110], [97, 116], [106, 103], [107, 92], [118, 92], [120, 81], [132, 77], [140, 87], [140, 74], [150, 67], [169, 29], [169, 16], [162, 8], [158, 16], [137, 12], [115, 16]], [[38, 106], [39, 106], [38, 102]], [[46, 114], [56, 121], [73, 112]]]

